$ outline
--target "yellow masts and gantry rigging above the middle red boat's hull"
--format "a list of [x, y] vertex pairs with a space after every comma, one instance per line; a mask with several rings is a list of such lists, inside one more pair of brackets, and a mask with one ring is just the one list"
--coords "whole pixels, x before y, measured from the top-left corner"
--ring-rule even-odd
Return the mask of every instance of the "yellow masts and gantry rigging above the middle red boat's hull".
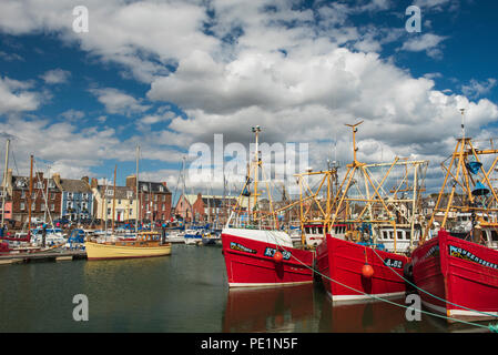
[[[356, 152], [356, 133], [363, 121], [356, 124], [346, 124], [353, 132], [353, 162], [347, 164], [347, 171], [343, 182], [337, 187], [337, 193], [331, 203], [335, 210], [327, 214], [326, 230], [333, 231], [333, 226], [337, 222], [347, 223], [349, 225], [360, 225], [363, 223], [369, 225], [386, 226], [394, 229], [394, 252], [396, 252], [397, 227], [410, 229], [410, 248], [413, 247], [413, 239], [415, 235], [415, 224], [419, 219], [418, 210], [421, 202], [420, 192], [424, 191], [424, 180], [428, 161], [408, 161], [395, 158], [393, 163], [367, 164], [357, 160]], [[399, 172], [403, 166], [405, 172]], [[386, 172], [373, 173], [374, 169], [388, 168]], [[384, 185], [392, 182], [393, 172], [400, 178], [400, 183], [390, 191], [386, 191]], [[404, 176], [403, 176], [404, 175]], [[377, 178], [376, 178], [377, 176]], [[413, 179], [411, 196], [397, 197], [402, 192], [402, 185], [407, 185], [408, 179]], [[356, 210], [352, 206], [355, 205]], [[407, 213], [411, 209], [410, 213]], [[402, 213], [405, 211], [405, 213]], [[376, 235], [374, 234], [374, 243]], [[358, 240], [358, 234], [349, 232], [348, 237]]]

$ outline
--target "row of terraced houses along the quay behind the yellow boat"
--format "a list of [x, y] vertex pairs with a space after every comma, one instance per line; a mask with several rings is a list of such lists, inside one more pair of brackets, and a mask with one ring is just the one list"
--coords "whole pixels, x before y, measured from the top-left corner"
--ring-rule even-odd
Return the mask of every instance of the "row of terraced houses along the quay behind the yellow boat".
[[114, 189], [110, 182], [103, 184], [88, 176], [64, 179], [58, 173], [44, 176], [37, 172], [31, 183], [29, 196], [29, 176], [13, 175], [9, 169], [6, 181], [2, 181], [0, 193], [6, 191], [6, 202], [0, 205], [0, 211], [4, 207], [4, 219], [11, 226], [21, 226], [28, 221], [30, 202], [32, 221], [126, 222], [139, 217], [144, 222], [163, 222], [171, 217], [171, 192], [165, 182], [139, 181], [136, 193], [135, 175], [126, 178], [125, 186]]

